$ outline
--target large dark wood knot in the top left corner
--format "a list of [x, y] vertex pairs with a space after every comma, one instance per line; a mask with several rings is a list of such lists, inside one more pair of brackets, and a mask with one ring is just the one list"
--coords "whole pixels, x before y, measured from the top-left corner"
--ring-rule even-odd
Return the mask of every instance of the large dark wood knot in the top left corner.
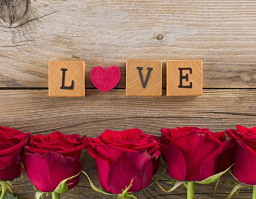
[[0, 22], [2, 26], [14, 27], [23, 23], [29, 0], [0, 0]]

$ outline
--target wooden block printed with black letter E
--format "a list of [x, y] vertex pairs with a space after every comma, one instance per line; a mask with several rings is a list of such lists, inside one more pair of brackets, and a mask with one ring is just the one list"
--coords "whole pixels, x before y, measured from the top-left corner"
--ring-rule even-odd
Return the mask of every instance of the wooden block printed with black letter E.
[[201, 96], [203, 94], [202, 60], [168, 60], [166, 96]]

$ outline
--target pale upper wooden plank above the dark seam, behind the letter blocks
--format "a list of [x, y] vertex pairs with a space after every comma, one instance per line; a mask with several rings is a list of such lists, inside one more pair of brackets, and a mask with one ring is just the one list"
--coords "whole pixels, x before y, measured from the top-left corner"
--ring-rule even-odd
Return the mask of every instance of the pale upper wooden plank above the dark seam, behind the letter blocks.
[[86, 87], [92, 67], [117, 65], [125, 88], [127, 59], [163, 60], [165, 85], [166, 60], [201, 59], [204, 88], [256, 88], [253, 0], [11, 2], [1, 1], [1, 87], [47, 88], [48, 60], [82, 60]]

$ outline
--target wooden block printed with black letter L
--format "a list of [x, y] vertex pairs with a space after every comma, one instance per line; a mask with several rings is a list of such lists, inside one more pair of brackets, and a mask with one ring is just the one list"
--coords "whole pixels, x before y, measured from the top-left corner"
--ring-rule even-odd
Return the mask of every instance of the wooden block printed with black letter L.
[[85, 97], [84, 61], [49, 61], [50, 97]]

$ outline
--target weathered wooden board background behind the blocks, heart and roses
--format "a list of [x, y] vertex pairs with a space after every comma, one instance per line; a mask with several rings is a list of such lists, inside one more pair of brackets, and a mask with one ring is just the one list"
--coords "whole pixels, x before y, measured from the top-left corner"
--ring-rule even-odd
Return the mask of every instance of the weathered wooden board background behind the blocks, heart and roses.
[[[0, 121], [33, 134], [56, 130], [97, 136], [105, 128], [198, 126], [212, 131], [256, 126], [255, 0], [0, 0]], [[125, 97], [126, 59], [202, 59], [201, 97]], [[48, 60], [84, 60], [85, 98], [48, 97]], [[90, 69], [117, 65], [122, 77], [109, 93], [94, 89]], [[86, 171], [97, 184], [94, 161]], [[167, 188], [164, 177], [160, 184]], [[222, 178], [214, 198], [234, 182]], [[25, 177], [13, 191], [34, 198]], [[210, 198], [214, 185], [196, 186]], [[163, 193], [153, 185], [138, 198], [186, 198], [185, 187]], [[242, 189], [233, 198], [250, 198]], [[88, 180], [63, 198], [106, 198]]]

